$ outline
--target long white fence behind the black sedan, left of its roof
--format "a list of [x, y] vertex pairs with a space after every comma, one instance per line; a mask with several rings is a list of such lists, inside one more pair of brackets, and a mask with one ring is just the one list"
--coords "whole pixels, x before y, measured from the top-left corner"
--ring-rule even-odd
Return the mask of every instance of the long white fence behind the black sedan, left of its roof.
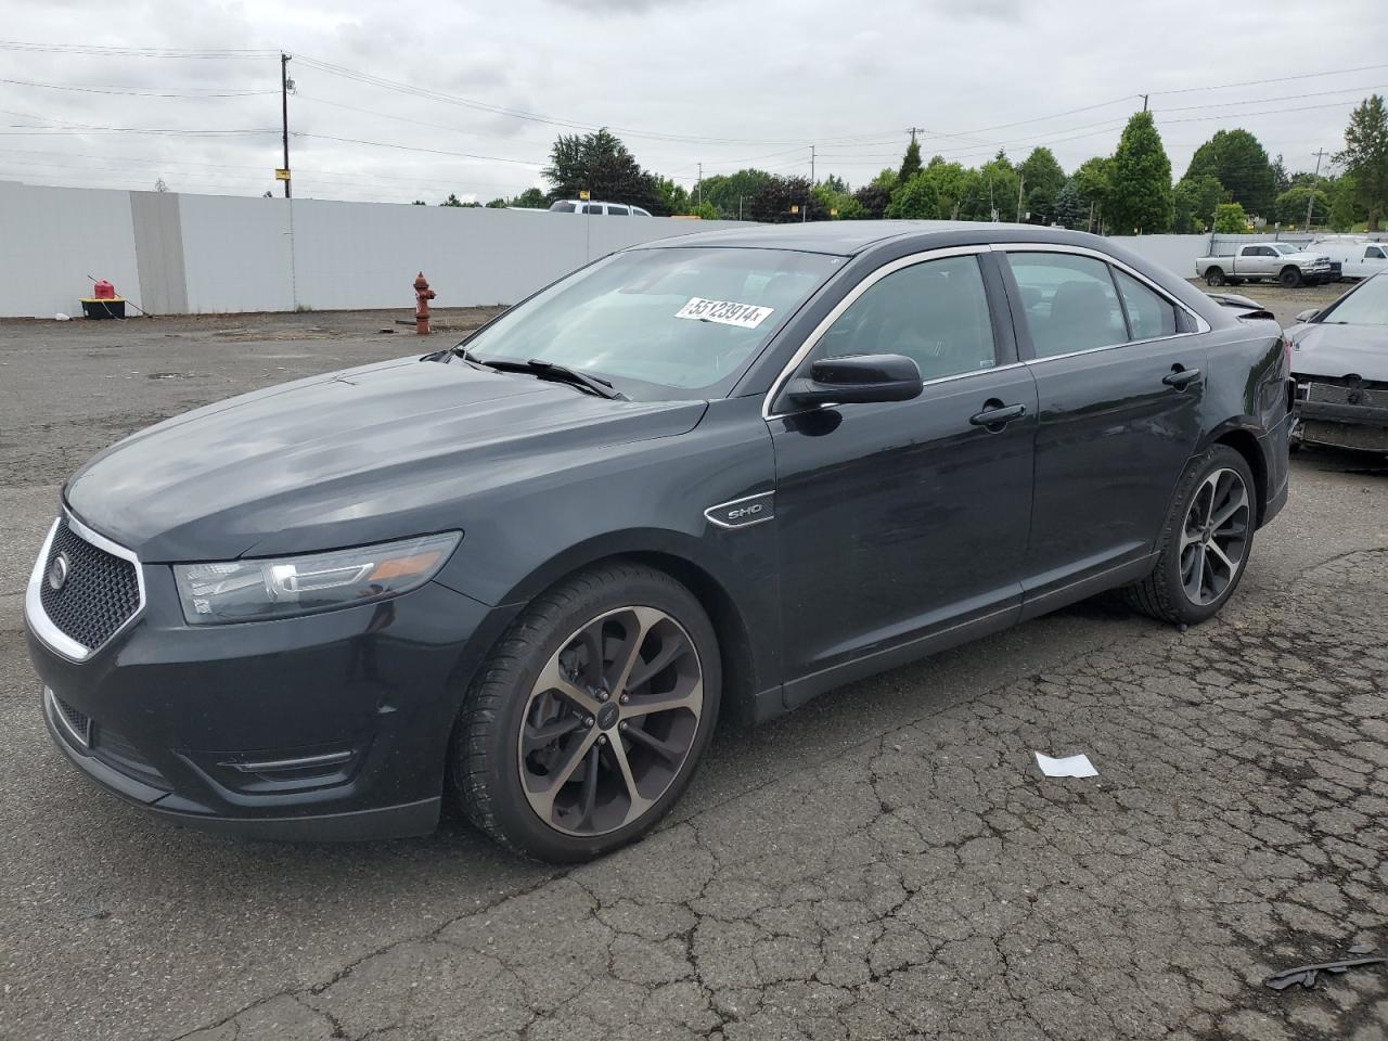
[[87, 276], [154, 314], [511, 304], [623, 246], [736, 221], [179, 196], [0, 182], [0, 316], [79, 314]]

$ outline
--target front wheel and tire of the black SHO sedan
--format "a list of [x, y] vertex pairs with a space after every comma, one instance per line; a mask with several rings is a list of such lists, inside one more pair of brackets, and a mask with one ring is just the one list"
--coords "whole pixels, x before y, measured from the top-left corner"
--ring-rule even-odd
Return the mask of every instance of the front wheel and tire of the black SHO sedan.
[[540, 594], [479, 670], [450, 747], [454, 793], [515, 852], [601, 856], [679, 799], [720, 691], [718, 638], [694, 594], [638, 564], [589, 568]]

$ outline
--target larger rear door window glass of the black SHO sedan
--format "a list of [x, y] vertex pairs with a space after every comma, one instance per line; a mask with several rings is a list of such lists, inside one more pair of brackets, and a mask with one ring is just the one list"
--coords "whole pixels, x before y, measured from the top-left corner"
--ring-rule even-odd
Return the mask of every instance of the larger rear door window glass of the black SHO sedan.
[[1109, 265], [1067, 253], [1009, 253], [1038, 358], [1124, 343]]

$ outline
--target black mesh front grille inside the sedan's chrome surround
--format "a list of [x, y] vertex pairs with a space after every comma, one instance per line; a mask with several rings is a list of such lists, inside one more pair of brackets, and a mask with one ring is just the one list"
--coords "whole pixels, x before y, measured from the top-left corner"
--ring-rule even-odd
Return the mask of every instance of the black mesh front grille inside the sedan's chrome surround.
[[[54, 589], [50, 576], [60, 554], [67, 559], [67, 579]], [[140, 580], [130, 561], [93, 545], [64, 518], [53, 533], [39, 600], [58, 632], [92, 651], [140, 609]]]

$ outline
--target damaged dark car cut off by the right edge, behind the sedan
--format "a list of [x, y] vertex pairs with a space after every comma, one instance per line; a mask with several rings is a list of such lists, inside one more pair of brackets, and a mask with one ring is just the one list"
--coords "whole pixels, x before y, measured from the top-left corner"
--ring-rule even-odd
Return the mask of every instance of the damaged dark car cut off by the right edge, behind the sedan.
[[1296, 379], [1292, 447], [1388, 452], [1388, 275], [1367, 278], [1288, 330]]

